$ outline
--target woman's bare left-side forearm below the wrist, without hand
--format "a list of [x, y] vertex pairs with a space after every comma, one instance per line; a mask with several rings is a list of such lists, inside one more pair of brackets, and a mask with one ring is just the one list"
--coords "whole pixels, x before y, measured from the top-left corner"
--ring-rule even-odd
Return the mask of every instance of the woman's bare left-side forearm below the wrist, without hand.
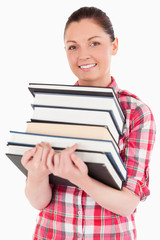
[[25, 194], [31, 205], [38, 209], [44, 209], [51, 201], [52, 189], [49, 185], [49, 177], [39, 179], [28, 174]]

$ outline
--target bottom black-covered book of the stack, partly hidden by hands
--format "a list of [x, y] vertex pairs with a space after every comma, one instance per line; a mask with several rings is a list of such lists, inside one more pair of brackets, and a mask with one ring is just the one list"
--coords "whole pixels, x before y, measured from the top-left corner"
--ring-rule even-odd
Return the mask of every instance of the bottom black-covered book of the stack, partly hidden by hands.
[[[8, 145], [8, 152], [6, 153], [7, 157], [26, 177], [28, 173], [21, 164], [21, 158], [25, 151], [29, 149], [31, 149], [31, 147]], [[89, 176], [115, 189], [122, 189], [123, 180], [119, 177], [105, 153], [76, 151], [75, 154], [87, 164]], [[49, 182], [53, 185], [73, 185], [70, 181], [53, 174], [49, 175]]]

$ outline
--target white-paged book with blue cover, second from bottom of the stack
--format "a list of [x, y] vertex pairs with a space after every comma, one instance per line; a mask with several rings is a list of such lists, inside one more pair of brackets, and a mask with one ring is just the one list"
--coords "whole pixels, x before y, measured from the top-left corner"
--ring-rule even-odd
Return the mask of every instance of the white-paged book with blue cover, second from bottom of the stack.
[[55, 150], [65, 149], [66, 147], [72, 146], [77, 143], [77, 151], [104, 152], [120, 178], [124, 181], [126, 180], [127, 170], [113, 142], [109, 140], [61, 137], [10, 131], [10, 141], [8, 142], [8, 144], [25, 145], [29, 147], [35, 146], [41, 141], [49, 142]]

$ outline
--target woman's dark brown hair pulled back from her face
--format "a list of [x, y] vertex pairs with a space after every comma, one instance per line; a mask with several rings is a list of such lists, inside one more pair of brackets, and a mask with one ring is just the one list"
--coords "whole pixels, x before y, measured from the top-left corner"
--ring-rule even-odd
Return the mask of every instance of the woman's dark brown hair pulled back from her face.
[[105, 12], [95, 7], [82, 7], [73, 12], [66, 22], [64, 36], [70, 23], [79, 22], [80, 20], [87, 18], [95, 20], [97, 24], [100, 25], [107, 34], [109, 34], [111, 41], [115, 40], [113, 26], [109, 17]]

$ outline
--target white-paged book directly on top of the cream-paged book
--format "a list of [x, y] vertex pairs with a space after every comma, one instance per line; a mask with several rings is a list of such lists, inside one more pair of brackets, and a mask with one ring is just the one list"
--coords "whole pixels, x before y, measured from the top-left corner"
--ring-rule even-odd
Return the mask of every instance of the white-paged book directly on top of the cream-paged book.
[[117, 143], [120, 137], [108, 111], [34, 107], [31, 121], [107, 126]]

